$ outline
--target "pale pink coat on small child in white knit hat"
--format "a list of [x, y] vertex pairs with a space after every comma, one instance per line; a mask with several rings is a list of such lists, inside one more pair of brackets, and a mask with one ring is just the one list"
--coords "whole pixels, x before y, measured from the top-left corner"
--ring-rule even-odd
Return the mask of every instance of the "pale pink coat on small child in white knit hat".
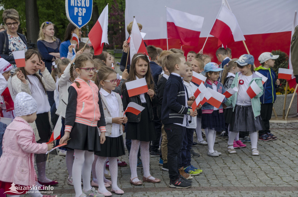
[[32, 186], [37, 181], [34, 153], [46, 153], [46, 143], [38, 144], [32, 127], [20, 117], [7, 126], [0, 158], [0, 181]]

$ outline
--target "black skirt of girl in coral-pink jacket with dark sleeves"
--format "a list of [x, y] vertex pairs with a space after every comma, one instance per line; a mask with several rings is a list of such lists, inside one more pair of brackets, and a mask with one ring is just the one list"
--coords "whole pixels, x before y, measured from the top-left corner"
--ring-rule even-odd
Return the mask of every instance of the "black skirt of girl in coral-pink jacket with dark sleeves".
[[88, 126], [75, 122], [65, 148], [71, 150], [100, 151], [100, 137], [97, 126]]

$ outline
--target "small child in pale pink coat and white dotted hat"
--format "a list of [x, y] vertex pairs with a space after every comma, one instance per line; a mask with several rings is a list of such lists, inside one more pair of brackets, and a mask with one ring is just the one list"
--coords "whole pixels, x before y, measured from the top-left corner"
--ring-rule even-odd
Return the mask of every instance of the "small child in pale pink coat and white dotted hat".
[[[47, 69], [46, 69], [47, 70]], [[49, 71], [47, 71], [49, 72]], [[37, 176], [34, 169], [34, 154], [45, 154], [53, 148], [53, 142], [36, 143], [32, 127], [36, 119], [38, 104], [35, 99], [25, 92], [15, 97], [15, 119], [7, 126], [3, 140], [3, 155], [0, 158], [0, 187], [10, 191], [13, 184], [19, 186], [35, 185]], [[24, 194], [28, 190], [18, 190]], [[38, 190], [30, 190], [30, 196], [43, 197]], [[15, 193], [7, 193], [11, 197]], [[57, 197], [49, 196], [49, 197]]]

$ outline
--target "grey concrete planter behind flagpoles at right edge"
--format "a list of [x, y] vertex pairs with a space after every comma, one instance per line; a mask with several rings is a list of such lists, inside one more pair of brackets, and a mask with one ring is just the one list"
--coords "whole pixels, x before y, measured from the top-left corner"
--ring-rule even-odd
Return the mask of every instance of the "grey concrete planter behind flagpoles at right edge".
[[[293, 94], [287, 94], [287, 101], [285, 104], [285, 115], [287, 114], [287, 110], [290, 106], [290, 102], [292, 99]], [[277, 116], [282, 117], [283, 116], [283, 103], [285, 101], [285, 94], [276, 95], [276, 101], [273, 104], [273, 107], [277, 113]], [[297, 93], [295, 93], [294, 100], [289, 112], [288, 117], [296, 117], [297, 115]], [[274, 113], [272, 112], [272, 118], [275, 117]]]

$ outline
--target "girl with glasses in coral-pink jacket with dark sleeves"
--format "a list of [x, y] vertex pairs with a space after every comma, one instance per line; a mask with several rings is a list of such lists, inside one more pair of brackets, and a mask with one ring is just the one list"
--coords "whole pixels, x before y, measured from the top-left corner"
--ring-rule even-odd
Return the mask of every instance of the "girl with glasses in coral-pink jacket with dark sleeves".
[[[105, 141], [105, 118], [98, 95], [98, 87], [90, 80], [93, 77], [93, 60], [86, 54], [77, 56], [70, 71], [75, 68], [78, 78], [69, 86], [68, 103], [65, 113], [65, 133], [60, 144], [67, 143], [66, 148], [75, 150], [72, 166], [73, 184], [76, 197], [97, 196], [97, 190], [91, 188], [91, 165], [94, 152], [100, 151], [100, 144]], [[72, 79], [74, 76], [70, 73]], [[97, 127], [100, 129], [100, 136]], [[67, 141], [70, 138], [69, 141]], [[83, 167], [84, 166], [84, 167]], [[83, 168], [82, 168], [83, 167]], [[81, 177], [83, 175], [83, 191]]]

